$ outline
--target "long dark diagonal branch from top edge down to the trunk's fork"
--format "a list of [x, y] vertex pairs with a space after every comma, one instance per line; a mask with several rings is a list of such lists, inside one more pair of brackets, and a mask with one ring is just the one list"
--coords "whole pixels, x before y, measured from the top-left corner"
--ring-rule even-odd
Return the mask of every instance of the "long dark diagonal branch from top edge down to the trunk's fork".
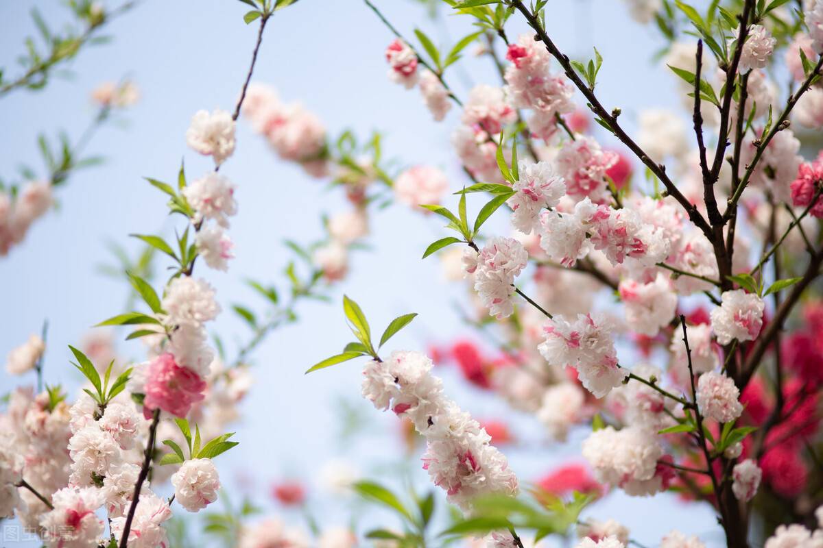
[[677, 200], [677, 202], [679, 202], [689, 214], [689, 219], [691, 222], [695, 223], [695, 225], [700, 228], [706, 237], [714, 240], [714, 233], [712, 233], [709, 223], [706, 222], [706, 219], [703, 218], [703, 215], [700, 214], [697, 207], [691, 204], [688, 198], [686, 198], [686, 196], [684, 196], [683, 193], [677, 189], [677, 185], [675, 185], [675, 183], [672, 182], [672, 179], [666, 174], [665, 166], [663, 166], [663, 164], [655, 163], [651, 158], [649, 158], [649, 154], [646, 154], [646, 152], [626, 134], [621, 125], [617, 122], [619, 111], [615, 110], [613, 113], [609, 113], [606, 108], [603, 107], [593, 90], [590, 90], [588, 85], [586, 85], [584, 81], [580, 79], [577, 72], [574, 71], [574, 67], [571, 66], [569, 57], [560, 52], [560, 49], [557, 48], [554, 42], [551, 41], [549, 35], [546, 34], [546, 30], [543, 30], [540, 21], [538, 21], [537, 17], [523, 5], [522, 0], [509, 0], [509, 4], [523, 14], [526, 21], [528, 21], [528, 25], [532, 27], [535, 33], [537, 33], [537, 38], [541, 39], [543, 44], [546, 46], [546, 50], [551, 53], [551, 55], [557, 59], [557, 62], [560, 63], [560, 66], [563, 67], [565, 75], [569, 77], [575, 86], [577, 86], [580, 93], [584, 94], [584, 97], [588, 100], [588, 107], [591, 108], [592, 112], [597, 114], [603, 122], [606, 122], [607, 126], [614, 132], [615, 136], [621, 140], [621, 142], [626, 145], [629, 150], [631, 150], [632, 153], [634, 153], [638, 159], [643, 162], [652, 173], [654, 173], [656, 177], [658, 177], [660, 182], [663, 182], [663, 186], [666, 187], [668, 194], [670, 196], [674, 196], [675, 200]]

